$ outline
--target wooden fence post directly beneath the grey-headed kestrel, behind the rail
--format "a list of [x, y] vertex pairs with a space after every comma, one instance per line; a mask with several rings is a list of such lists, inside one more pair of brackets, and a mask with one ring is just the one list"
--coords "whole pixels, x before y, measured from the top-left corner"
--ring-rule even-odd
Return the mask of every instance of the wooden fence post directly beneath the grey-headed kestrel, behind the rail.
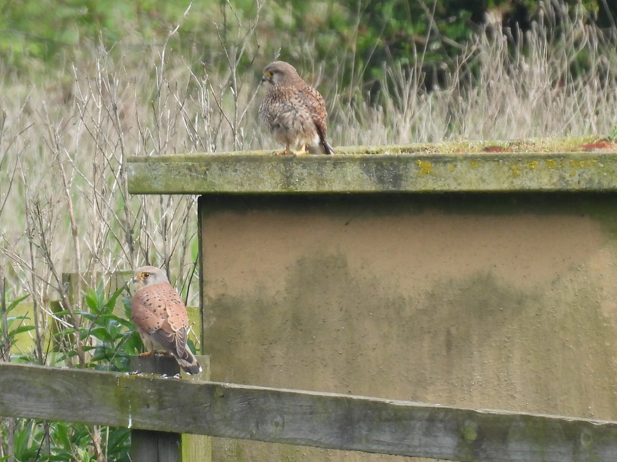
[[[202, 366], [198, 375], [182, 374], [183, 380], [207, 380], [210, 378], [210, 357], [197, 356]], [[134, 356], [131, 370], [151, 374], [174, 376], [180, 366], [171, 355]], [[184, 442], [184, 445], [183, 445]], [[173, 432], [131, 430], [132, 462], [210, 462], [212, 444], [210, 437], [185, 435]]]

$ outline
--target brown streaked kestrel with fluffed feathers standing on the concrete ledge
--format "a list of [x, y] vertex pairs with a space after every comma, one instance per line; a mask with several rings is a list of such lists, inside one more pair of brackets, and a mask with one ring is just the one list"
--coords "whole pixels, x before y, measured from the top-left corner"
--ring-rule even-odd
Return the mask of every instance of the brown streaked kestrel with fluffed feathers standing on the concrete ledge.
[[320, 92], [298, 75], [296, 68], [284, 61], [268, 64], [262, 82], [267, 85], [259, 106], [259, 117], [276, 141], [285, 145], [283, 154], [334, 154], [326, 140], [326, 105]]

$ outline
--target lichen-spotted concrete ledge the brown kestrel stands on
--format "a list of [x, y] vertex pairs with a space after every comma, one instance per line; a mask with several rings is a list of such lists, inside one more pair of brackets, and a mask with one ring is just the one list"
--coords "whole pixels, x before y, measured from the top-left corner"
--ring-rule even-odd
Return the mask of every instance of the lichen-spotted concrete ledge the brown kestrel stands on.
[[271, 152], [131, 157], [133, 194], [616, 191], [617, 153]]

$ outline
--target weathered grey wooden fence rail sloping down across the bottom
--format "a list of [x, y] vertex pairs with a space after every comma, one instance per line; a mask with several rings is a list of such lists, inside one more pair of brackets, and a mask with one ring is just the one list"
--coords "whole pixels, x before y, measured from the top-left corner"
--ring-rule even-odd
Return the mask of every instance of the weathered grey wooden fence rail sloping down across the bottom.
[[615, 461], [617, 422], [0, 363], [0, 415], [455, 461]]

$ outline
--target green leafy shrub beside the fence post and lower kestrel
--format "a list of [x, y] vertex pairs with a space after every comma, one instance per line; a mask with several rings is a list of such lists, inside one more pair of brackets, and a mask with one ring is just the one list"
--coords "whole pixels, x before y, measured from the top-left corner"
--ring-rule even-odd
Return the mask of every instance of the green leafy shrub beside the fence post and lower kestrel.
[[[85, 367], [96, 370], [128, 371], [132, 355], [141, 351], [141, 338], [130, 322], [130, 299], [123, 299], [122, 315], [115, 314], [116, 302], [124, 288], [116, 291], [109, 299], [104, 294], [103, 284], [84, 294], [88, 310], [79, 311], [83, 322], [80, 328], [65, 329], [55, 334], [56, 337], [72, 338], [70, 347], [53, 357], [53, 362], [77, 355], [76, 335], [83, 341], [84, 351], [91, 354]], [[25, 297], [12, 301], [7, 314]], [[56, 316], [68, 315], [68, 311], [57, 312]], [[9, 326], [7, 338], [12, 342], [20, 332], [32, 330], [34, 326], [20, 325], [24, 316], [7, 316]], [[0, 330], [2, 338], [4, 332]], [[66, 342], [64, 343], [66, 344]], [[15, 359], [37, 363], [32, 355], [22, 355]], [[51, 359], [51, 356], [50, 356]], [[0, 441], [5, 442], [7, 426], [0, 431], [4, 434]], [[129, 460], [131, 432], [126, 428], [88, 426], [65, 422], [46, 422], [38, 419], [14, 419], [13, 423], [14, 456], [19, 461], [94, 461], [96, 452], [101, 451], [106, 460]], [[3, 453], [6, 453], [4, 448]]]

